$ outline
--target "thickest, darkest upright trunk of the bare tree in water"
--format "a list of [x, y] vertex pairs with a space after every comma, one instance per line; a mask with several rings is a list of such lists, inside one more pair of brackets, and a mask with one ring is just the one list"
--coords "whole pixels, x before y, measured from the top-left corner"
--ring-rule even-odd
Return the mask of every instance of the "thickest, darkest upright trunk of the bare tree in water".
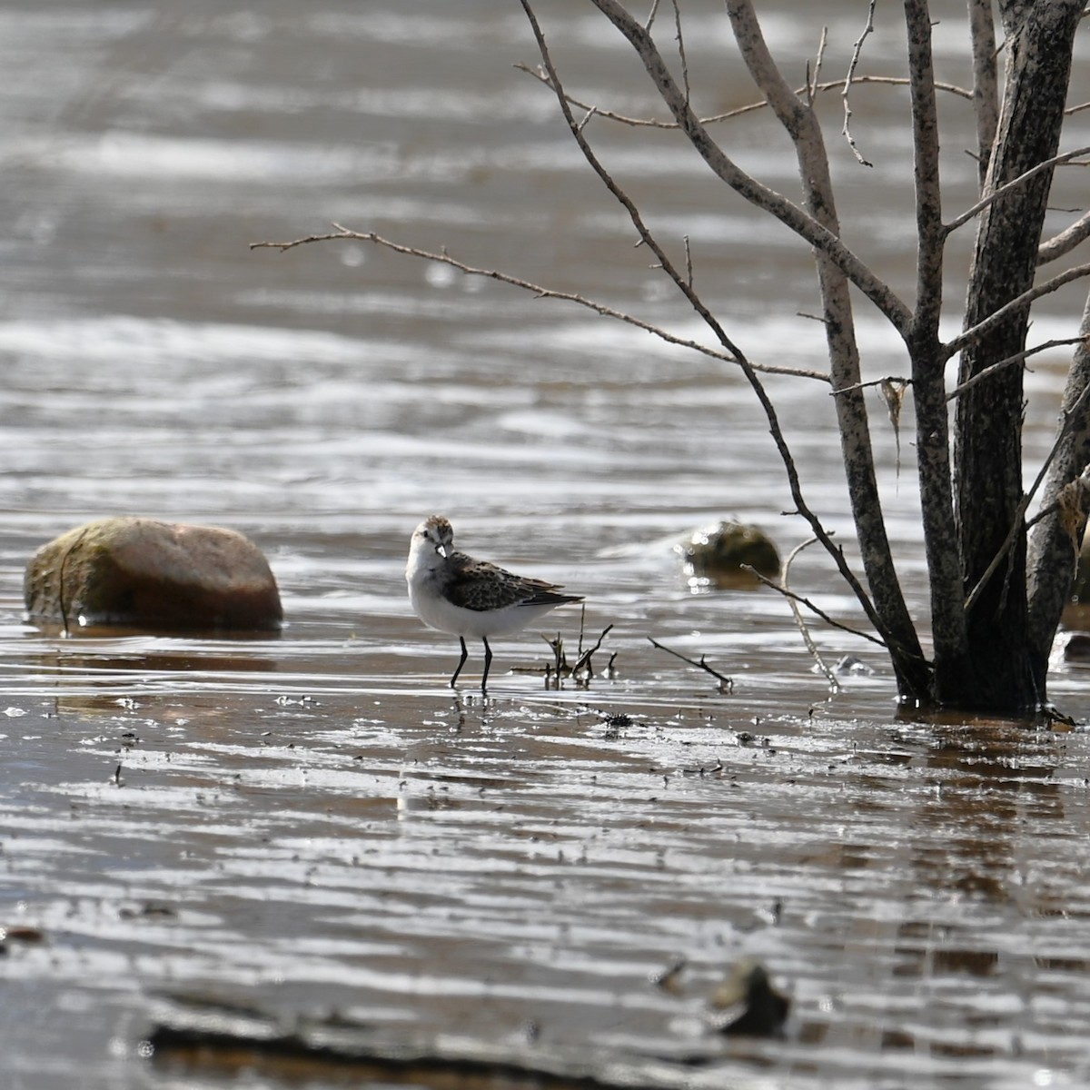
[[[1006, 87], [985, 194], [1052, 158], [1059, 143], [1075, 29], [1082, 0], [1033, 0], [1002, 5], [1007, 32]], [[1033, 283], [1052, 182], [1046, 170], [990, 204], [981, 214], [970, 274], [965, 327], [971, 328]], [[1021, 352], [1028, 308], [1009, 315], [971, 342], [961, 382]], [[1031, 659], [1026, 580], [1026, 532], [1018, 528], [1003, 564], [985, 579], [1022, 516], [1022, 373], [1004, 367], [958, 399], [956, 500], [965, 590], [974, 594], [967, 617], [968, 669], [936, 693], [948, 704], [1010, 711], [1043, 699]], [[947, 650], [936, 644], [936, 681]]]

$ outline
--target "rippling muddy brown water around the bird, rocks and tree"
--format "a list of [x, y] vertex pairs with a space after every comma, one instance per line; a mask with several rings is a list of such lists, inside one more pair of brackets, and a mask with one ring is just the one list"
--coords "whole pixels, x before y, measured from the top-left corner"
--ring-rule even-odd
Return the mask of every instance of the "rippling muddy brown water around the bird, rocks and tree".
[[[652, 112], [597, 16], [548, 7], [579, 93]], [[818, 29], [765, 8], [801, 76]], [[839, 71], [862, 15], [826, 9]], [[944, 12], [936, 33], [941, 74], [964, 83], [960, 17]], [[748, 101], [718, 59], [722, 11], [693, 19], [707, 109]], [[0, 29], [5, 1088], [286, 1085], [148, 1058], [165, 995], [482, 1046], [530, 1033], [597, 1057], [700, 1049], [707, 1085], [1090, 1081], [1086, 734], [915, 720], [880, 652], [815, 627], [829, 662], [861, 661], [831, 693], [780, 600], [686, 584], [669, 538], [711, 519], [756, 522], [784, 552], [807, 536], [782, 513], [783, 474], [736, 374], [356, 244], [249, 251], [336, 220], [699, 336], [547, 93], [511, 68], [536, 62], [517, 5], [27, 0], [0, 3]], [[896, 66], [899, 41], [879, 26], [874, 70]], [[860, 95], [875, 167], [834, 156], [852, 241], [908, 294], [911, 240], [891, 216], [910, 203], [905, 109], [897, 92]], [[946, 117], [957, 207], [968, 118], [957, 104]], [[815, 305], [806, 255], [668, 136], [649, 155], [641, 134], [591, 129], [671, 245], [690, 235], [698, 284], [739, 342], [820, 366], [796, 316]], [[731, 141], [795, 192], [789, 149], [759, 119]], [[1077, 291], [1057, 298], [1036, 332], [1069, 336], [1080, 310]], [[859, 320], [868, 373], [903, 373], [881, 324]], [[1034, 456], [1062, 374], [1057, 354], [1028, 377]], [[850, 543], [827, 393], [770, 389], [811, 504]], [[909, 432], [898, 475], [873, 409], [925, 618]], [[455, 641], [424, 630], [403, 592], [408, 535], [432, 511], [470, 552], [585, 594], [584, 641], [614, 626], [597, 659], [615, 655], [614, 676], [547, 689], [530, 631], [497, 641], [487, 701], [476, 649], [453, 695]], [[26, 558], [110, 513], [251, 534], [281, 586], [282, 635], [27, 625]], [[857, 619], [815, 550], [794, 578]], [[554, 617], [545, 634], [576, 645], [579, 613]], [[649, 637], [706, 655], [734, 691]], [[1057, 654], [1051, 685], [1090, 720], [1085, 670]], [[739, 957], [790, 994], [783, 1039], [708, 1037], [705, 997]], [[680, 991], [653, 986], [677, 958]]]

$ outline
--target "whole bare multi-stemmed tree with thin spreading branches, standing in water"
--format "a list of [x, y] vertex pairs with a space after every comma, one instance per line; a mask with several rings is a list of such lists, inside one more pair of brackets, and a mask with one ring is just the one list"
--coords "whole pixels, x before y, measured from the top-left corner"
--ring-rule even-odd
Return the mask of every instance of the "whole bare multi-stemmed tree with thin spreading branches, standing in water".
[[[630, 322], [670, 343], [687, 344], [737, 364], [768, 422], [796, 512], [821, 542], [888, 650], [899, 694], [920, 702], [1003, 713], [1039, 705], [1045, 698], [1052, 638], [1070, 584], [1075, 542], [1090, 510], [1090, 467], [1087, 465], [1090, 461], [1090, 413], [1087, 411], [1090, 407], [1090, 301], [1082, 325], [1086, 342], [1073, 364], [1057, 443], [1038, 476], [1040, 483], [1046, 469], [1051, 473], [1031, 550], [1027, 543], [1025, 511], [1037, 485], [1030, 495], [1024, 493], [1021, 364], [1028, 355], [1047, 347], [1038, 346], [1026, 351], [1032, 303], [1065, 283], [1090, 276], [1090, 264], [1081, 264], [1034, 283], [1034, 269], [1039, 265], [1069, 254], [1090, 238], [1090, 211], [1087, 211], [1046, 243], [1040, 240], [1052, 171], [1057, 161], [1055, 152], [1064, 121], [1075, 31], [1083, 0], [966, 0], [972, 38], [972, 99], [977, 113], [981, 196], [947, 221], [943, 218], [940, 183], [936, 89], [962, 95], [965, 92], [935, 81], [933, 23], [928, 0], [903, 0], [908, 32], [918, 247], [916, 299], [911, 306], [841, 235], [824, 138], [813, 109], [813, 96], [821, 87], [840, 86], [847, 99], [857, 78], [875, 78], [853, 75], [859, 47], [873, 29], [870, 22], [857, 43], [845, 81], [819, 84], [814, 75], [813, 80], [808, 77], [801, 90], [792, 90], [766, 48], [753, 0], [725, 0], [741, 56], [765, 102], [794, 142], [803, 193], [803, 202], [796, 204], [742, 170], [713, 138], [708, 124], [722, 118], [702, 120], [693, 109], [681, 38], [680, 4], [674, 5], [677, 32], [674, 41], [681, 72], [679, 84], [651, 34], [657, 2], [652, 5], [646, 22], [640, 22], [622, 0], [590, 0], [631, 44], [668, 108], [673, 124], [688, 137], [712, 172], [812, 249], [822, 295], [829, 359], [827, 375], [749, 361], [701, 300], [693, 287], [692, 269], [686, 276], [685, 269], [671, 261], [667, 249], [647, 228], [640, 209], [605, 169], [584, 133], [588, 122], [598, 113], [633, 124], [654, 123], [657, 126], [659, 123], [623, 119], [569, 98], [531, 0], [520, 2], [542, 55], [543, 72], [538, 77], [555, 93], [586, 162], [628, 213], [640, 243], [654, 254], [655, 267], [675, 283], [712, 331], [719, 348], [713, 350], [707, 344], [679, 338], [634, 315], [580, 294], [553, 291], [494, 269], [474, 268], [453, 259], [445, 251], [427, 253], [389, 242], [373, 232], [361, 233], [334, 225], [336, 230], [331, 234], [254, 245], [287, 250], [331, 239], [367, 241], [399, 253], [445, 262], [468, 274], [517, 284], [540, 296], [567, 299], [600, 314]], [[872, 2], [871, 15], [873, 7]], [[1000, 9], [1006, 36], [1002, 50], [1006, 58], [1002, 110], [997, 106], [995, 7]], [[819, 56], [823, 49], [824, 46]], [[581, 121], [572, 112], [573, 105], [588, 111]], [[847, 122], [844, 134], [855, 149]], [[1086, 148], [1073, 149], [1058, 159], [1067, 161], [1085, 152]], [[864, 161], [858, 152], [857, 157]], [[944, 342], [940, 318], [945, 243], [952, 231], [977, 217], [977, 244], [965, 322], [961, 332]], [[862, 392], [864, 386], [874, 384], [861, 382], [852, 287], [903, 338], [911, 361], [917, 462], [931, 590], [932, 662], [923, 657], [908, 614], [882, 514]], [[948, 396], [946, 364], [958, 351], [962, 353], [960, 382], [955, 393]], [[788, 372], [809, 379], [823, 379], [832, 386], [867, 588], [803, 496], [798, 469], [759, 371]], [[949, 397], [957, 399], [953, 460]], [[811, 605], [811, 608], [815, 607]], [[821, 615], [816, 608], [815, 611]], [[873, 639], [870, 633], [860, 634]]]

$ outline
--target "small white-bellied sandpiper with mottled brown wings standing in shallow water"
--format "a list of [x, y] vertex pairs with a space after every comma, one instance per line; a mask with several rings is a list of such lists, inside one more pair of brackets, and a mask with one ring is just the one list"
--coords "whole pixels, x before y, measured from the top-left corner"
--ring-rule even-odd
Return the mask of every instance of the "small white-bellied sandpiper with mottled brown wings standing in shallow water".
[[441, 514], [425, 519], [413, 531], [405, 566], [409, 601], [425, 625], [457, 635], [461, 642], [462, 657], [450, 678], [451, 689], [469, 655], [465, 637], [484, 643], [481, 691], [486, 692], [492, 665], [489, 635], [517, 632], [557, 606], [583, 600], [561, 594], [561, 588], [542, 579], [514, 576], [487, 560], [474, 560], [457, 552], [453, 540], [450, 522]]

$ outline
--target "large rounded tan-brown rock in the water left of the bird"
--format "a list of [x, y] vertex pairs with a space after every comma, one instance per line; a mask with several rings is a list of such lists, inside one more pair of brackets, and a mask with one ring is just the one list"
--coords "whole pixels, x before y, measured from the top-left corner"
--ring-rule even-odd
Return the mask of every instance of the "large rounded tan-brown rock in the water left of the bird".
[[31, 558], [23, 596], [33, 620], [154, 632], [278, 629], [276, 580], [243, 534], [144, 518], [99, 519]]

